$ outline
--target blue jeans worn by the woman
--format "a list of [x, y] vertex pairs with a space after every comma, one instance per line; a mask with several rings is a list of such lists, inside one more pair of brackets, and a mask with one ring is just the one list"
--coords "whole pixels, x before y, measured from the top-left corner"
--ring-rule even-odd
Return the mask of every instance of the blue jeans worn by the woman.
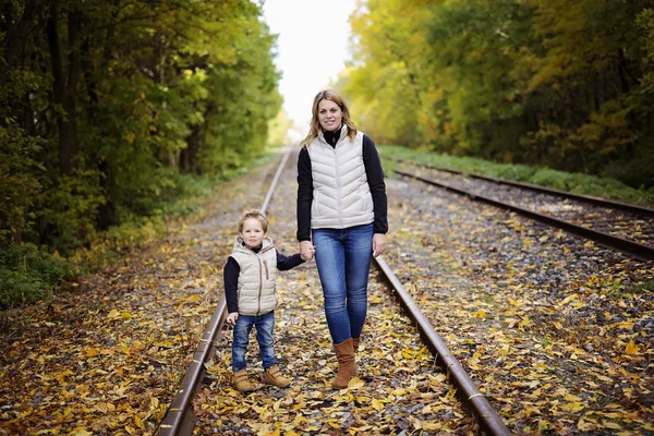
[[331, 341], [359, 338], [367, 314], [373, 225], [313, 229], [312, 239]]

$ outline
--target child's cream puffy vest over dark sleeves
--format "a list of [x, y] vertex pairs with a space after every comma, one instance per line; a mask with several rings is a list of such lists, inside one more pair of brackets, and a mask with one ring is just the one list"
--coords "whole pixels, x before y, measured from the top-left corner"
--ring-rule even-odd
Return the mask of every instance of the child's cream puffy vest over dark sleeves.
[[231, 256], [239, 263], [239, 313], [258, 316], [277, 307], [277, 251], [272, 240], [265, 238], [258, 253], [243, 246], [237, 237]]

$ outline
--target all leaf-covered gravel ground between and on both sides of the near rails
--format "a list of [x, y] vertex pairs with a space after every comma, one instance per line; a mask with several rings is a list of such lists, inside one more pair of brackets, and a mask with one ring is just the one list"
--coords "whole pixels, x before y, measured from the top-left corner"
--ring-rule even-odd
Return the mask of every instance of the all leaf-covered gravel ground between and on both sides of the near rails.
[[[156, 434], [220, 298], [235, 221], [262, 204], [277, 164], [226, 183], [194, 219], [76, 292], [7, 314], [0, 434]], [[292, 162], [282, 175], [268, 214], [290, 254]], [[388, 195], [385, 259], [511, 431], [654, 432], [651, 263], [606, 263], [593, 245], [417, 182], [388, 180]], [[197, 434], [479, 433], [376, 270], [360, 379], [342, 391], [328, 386], [336, 361], [315, 264], [278, 286], [291, 387], [235, 392], [227, 335], [194, 402]]]

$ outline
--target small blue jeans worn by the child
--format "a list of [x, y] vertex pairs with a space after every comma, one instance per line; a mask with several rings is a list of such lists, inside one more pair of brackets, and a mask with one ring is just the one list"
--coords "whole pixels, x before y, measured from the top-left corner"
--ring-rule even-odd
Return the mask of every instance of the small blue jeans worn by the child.
[[250, 331], [252, 326], [256, 327], [256, 341], [259, 344], [262, 353], [262, 363], [264, 370], [268, 370], [272, 365], [277, 365], [275, 359], [272, 330], [275, 329], [275, 312], [259, 316], [239, 315], [237, 325], [234, 326], [234, 338], [232, 340], [232, 370], [245, 370], [245, 351], [250, 341]]

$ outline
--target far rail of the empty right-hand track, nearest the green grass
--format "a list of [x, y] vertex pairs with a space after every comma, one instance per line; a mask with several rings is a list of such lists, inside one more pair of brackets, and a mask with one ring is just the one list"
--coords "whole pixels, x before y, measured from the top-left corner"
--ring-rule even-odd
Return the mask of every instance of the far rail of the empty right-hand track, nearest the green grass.
[[560, 197], [565, 197], [565, 198], [577, 199], [580, 202], [590, 203], [595, 206], [610, 207], [614, 209], [629, 211], [632, 214], [638, 214], [638, 215], [642, 215], [642, 216], [646, 216], [646, 217], [654, 217], [654, 209], [644, 207], [644, 206], [638, 206], [638, 205], [632, 205], [629, 203], [616, 202], [614, 199], [593, 197], [590, 195], [574, 194], [574, 193], [571, 193], [568, 191], [555, 190], [552, 187], [541, 186], [541, 185], [532, 184], [532, 183], [518, 182], [516, 180], [499, 179], [499, 178], [494, 178], [491, 175], [479, 174], [475, 172], [464, 172], [464, 171], [455, 170], [455, 169], [450, 169], [450, 168], [434, 167], [434, 166], [431, 166], [427, 164], [412, 162], [412, 161], [408, 161], [408, 160], [405, 161], [403, 159], [391, 158], [391, 160], [395, 160], [396, 162], [400, 162], [400, 164], [405, 162], [405, 164], [415, 165], [415, 166], [423, 167], [423, 168], [428, 168], [432, 170], [449, 172], [449, 173], [457, 174], [457, 175], [464, 175], [464, 177], [468, 175], [471, 179], [480, 179], [480, 180], [485, 180], [485, 181], [493, 182], [493, 183], [499, 183], [499, 184], [506, 184], [506, 185], [516, 186], [516, 187], [522, 187], [522, 189], [531, 190], [534, 192], [553, 194], [553, 195], [557, 195]]

